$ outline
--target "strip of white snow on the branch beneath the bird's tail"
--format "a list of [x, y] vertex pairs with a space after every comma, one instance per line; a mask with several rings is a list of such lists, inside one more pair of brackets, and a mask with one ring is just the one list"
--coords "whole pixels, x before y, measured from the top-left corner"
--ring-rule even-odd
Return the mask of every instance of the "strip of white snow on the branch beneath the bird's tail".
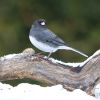
[[[89, 58], [87, 58], [85, 61], [83, 62], [78, 62], [78, 63], [65, 63], [65, 62], [62, 62], [62, 61], [59, 61], [57, 59], [54, 59], [54, 58], [49, 58], [50, 61], [52, 61], [53, 63], [56, 63], [56, 64], [62, 64], [62, 65], [65, 65], [65, 66], [71, 66], [71, 67], [82, 67], [84, 66], [87, 62], [89, 62], [92, 58], [96, 57], [97, 55], [100, 54], [100, 50], [96, 51], [92, 56], [90, 56]], [[44, 58], [47, 58], [47, 57], [44, 57]]]

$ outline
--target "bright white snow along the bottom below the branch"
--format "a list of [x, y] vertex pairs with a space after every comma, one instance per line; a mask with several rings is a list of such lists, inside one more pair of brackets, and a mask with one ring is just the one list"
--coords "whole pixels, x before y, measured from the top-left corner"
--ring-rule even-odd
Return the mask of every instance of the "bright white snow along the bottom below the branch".
[[62, 85], [41, 87], [21, 83], [16, 87], [0, 83], [0, 100], [97, 100], [82, 90], [66, 91]]

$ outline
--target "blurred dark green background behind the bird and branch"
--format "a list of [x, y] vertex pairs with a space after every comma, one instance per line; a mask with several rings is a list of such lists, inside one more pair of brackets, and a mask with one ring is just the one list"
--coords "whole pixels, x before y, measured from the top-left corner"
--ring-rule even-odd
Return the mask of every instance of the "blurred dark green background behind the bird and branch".
[[[40, 52], [28, 38], [38, 18], [44, 18], [69, 46], [89, 56], [100, 47], [100, 0], [0, 0], [0, 56], [28, 47]], [[86, 59], [65, 50], [51, 56], [66, 62]]]

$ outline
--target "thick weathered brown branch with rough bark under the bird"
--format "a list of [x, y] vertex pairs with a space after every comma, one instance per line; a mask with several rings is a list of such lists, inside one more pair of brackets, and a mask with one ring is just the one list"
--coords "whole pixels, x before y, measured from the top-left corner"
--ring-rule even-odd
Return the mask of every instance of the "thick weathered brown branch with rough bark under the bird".
[[100, 81], [100, 55], [93, 57], [77, 72], [69, 66], [54, 64], [27, 49], [11, 58], [0, 58], [0, 80], [29, 78], [47, 85], [62, 84], [68, 90], [82, 89], [93, 95], [95, 84]]

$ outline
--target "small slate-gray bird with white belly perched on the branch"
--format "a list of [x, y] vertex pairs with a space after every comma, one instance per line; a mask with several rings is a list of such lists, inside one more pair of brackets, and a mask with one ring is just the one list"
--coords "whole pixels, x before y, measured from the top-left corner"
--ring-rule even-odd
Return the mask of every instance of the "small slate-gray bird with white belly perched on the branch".
[[70, 50], [79, 53], [85, 57], [86, 54], [68, 46], [60, 37], [48, 29], [44, 19], [36, 19], [30, 29], [29, 39], [31, 43], [43, 52], [48, 52], [48, 58], [57, 50]]

